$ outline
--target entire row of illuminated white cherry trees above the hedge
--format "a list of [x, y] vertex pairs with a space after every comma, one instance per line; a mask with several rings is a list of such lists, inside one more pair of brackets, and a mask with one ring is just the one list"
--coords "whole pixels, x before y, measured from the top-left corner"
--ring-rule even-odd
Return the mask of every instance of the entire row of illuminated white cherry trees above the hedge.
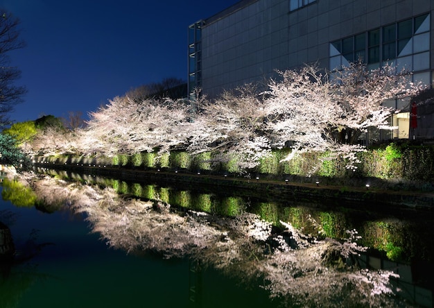
[[182, 148], [192, 154], [211, 152], [214, 162], [236, 158], [244, 171], [273, 148], [289, 146], [285, 160], [327, 152], [354, 169], [356, 153], [365, 151], [357, 142], [361, 133], [393, 129], [387, 120], [394, 110], [383, 102], [414, 96], [419, 89], [392, 65], [369, 71], [357, 62], [332, 73], [306, 65], [281, 71], [264, 92], [245, 85], [214, 101], [198, 96], [194, 106], [173, 99], [115, 97], [90, 113], [86, 128], [38, 136], [33, 152], [112, 156]]

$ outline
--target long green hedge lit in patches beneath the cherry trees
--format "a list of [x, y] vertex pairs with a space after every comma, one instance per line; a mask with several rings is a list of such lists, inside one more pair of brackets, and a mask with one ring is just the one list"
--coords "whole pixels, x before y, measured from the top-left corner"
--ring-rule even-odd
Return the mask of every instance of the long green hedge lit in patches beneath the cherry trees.
[[[330, 153], [303, 153], [284, 161], [290, 153], [288, 149], [272, 151], [260, 160], [259, 165], [247, 173], [264, 174], [269, 178], [288, 176], [316, 178], [378, 178], [381, 180], [412, 180], [434, 182], [434, 147], [413, 146], [409, 144], [387, 144], [370, 148], [358, 153], [361, 164], [353, 172], [345, 168], [346, 162], [332, 157]], [[213, 153], [205, 152], [190, 155], [184, 151], [171, 153], [136, 153], [119, 154], [109, 157], [53, 156], [40, 158], [38, 162], [48, 161], [55, 164], [112, 165], [141, 168], [182, 169], [197, 171], [214, 171], [216, 173], [239, 173], [236, 156], [226, 162], [216, 164]]]

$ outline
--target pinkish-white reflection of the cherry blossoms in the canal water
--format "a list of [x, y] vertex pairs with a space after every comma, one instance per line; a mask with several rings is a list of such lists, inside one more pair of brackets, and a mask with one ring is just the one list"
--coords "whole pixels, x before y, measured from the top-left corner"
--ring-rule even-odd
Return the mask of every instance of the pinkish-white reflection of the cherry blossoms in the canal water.
[[336, 241], [300, 232], [283, 221], [277, 230], [252, 213], [222, 216], [174, 208], [162, 198], [123, 198], [114, 189], [53, 178], [38, 180], [33, 186], [45, 203], [63, 203], [75, 212], [85, 212], [93, 232], [113, 248], [166, 258], [189, 257], [245, 282], [259, 278], [271, 297], [288, 305], [404, 305], [393, 295], [392, 272], [358, 266], [354, 254], [362, 248], [356, 243], [355, 231]]

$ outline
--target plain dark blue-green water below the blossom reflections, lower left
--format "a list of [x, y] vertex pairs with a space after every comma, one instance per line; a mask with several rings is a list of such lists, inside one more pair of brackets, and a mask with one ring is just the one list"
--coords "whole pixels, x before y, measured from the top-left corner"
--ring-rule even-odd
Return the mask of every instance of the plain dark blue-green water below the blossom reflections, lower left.
[[[29, 234], [48, 243], [40, 253], [0, 276], [0, 307], [275, 307], [266, 291], [238, 284], [186, 259], [128, 255], [90, 234], [83, 216], [53, 214], [0, 201], [17, 249]], [[29, 244], [27, 244], [29, 246]], [[31, 248], [31, 247], [30, 247]]]

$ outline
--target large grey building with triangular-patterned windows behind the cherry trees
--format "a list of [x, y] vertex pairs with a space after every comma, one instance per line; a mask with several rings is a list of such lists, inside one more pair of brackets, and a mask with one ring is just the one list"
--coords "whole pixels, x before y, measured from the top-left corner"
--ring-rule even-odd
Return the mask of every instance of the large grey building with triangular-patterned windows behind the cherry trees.
[[[332, 71], [358, 57], [370, 68], [393, 62], [432, 85], [433, 10], [433, 0], [239, 1], [189, 27], [189, 92], [200, 87], [213, 98], [265, 85], [276, 69], [318, 62]], [[407, 111], [391, 119], [399, 130], [390, 137], [408, 138], [408, 101], [385, 104]], [[434, 137], [434, 127], [423, 134]]]

